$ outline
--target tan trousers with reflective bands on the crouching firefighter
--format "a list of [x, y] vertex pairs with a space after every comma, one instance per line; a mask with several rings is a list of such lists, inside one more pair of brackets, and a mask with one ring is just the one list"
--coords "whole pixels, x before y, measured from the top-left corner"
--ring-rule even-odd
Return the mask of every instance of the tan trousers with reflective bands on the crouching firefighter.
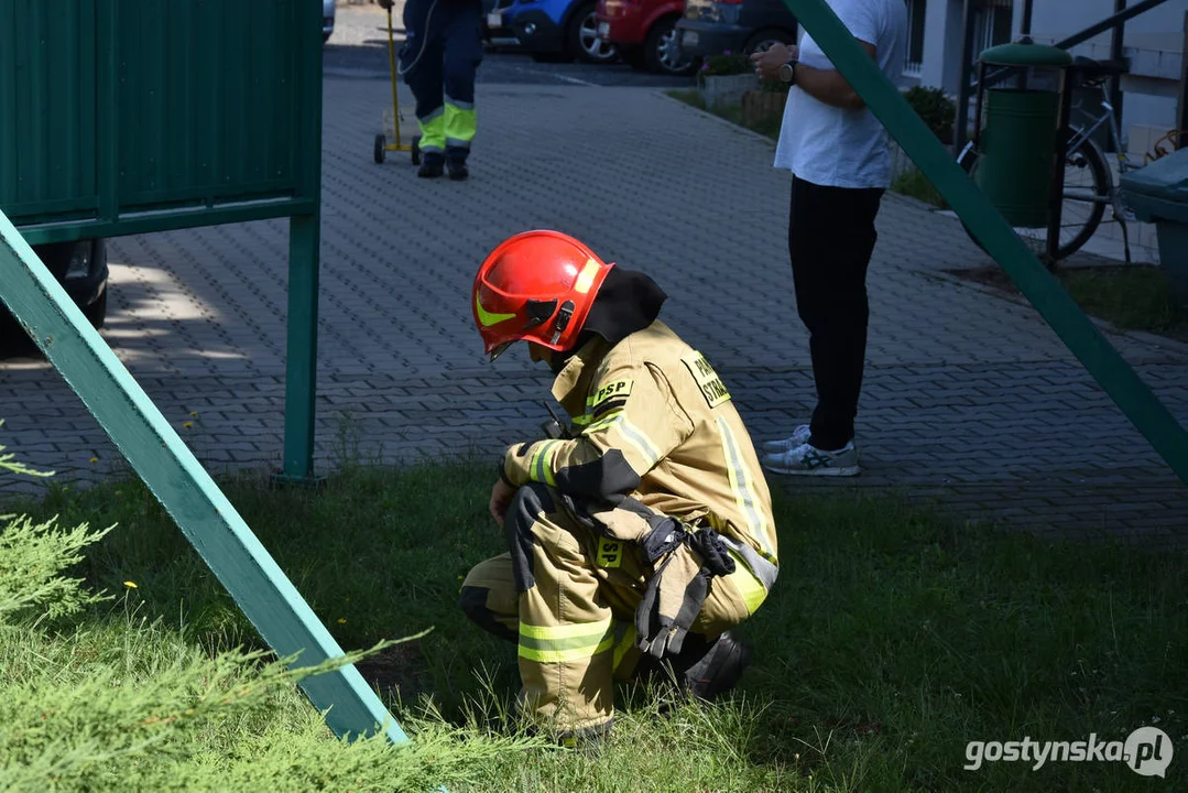
[[[634, 618], [651, 566], [638, 546], [583, 527], [554, 490], [536, 483], [516, 492], [504, 533], [508, 552], [470, 571], [462, 610], [518, 644], [525, 712], [562, 736], [609, 729], [614, 680], [642, 666]], [[765, 593], [744, 565], [715, 577], [691, 632], [716, 638]]]

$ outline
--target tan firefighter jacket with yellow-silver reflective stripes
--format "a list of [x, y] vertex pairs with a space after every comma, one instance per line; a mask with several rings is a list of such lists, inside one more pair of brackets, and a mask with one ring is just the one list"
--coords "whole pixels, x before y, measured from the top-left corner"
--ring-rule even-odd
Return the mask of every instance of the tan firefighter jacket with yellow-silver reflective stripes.
[[508, 448], [508, 484], [554, 487], [618, 540], [647, 534], [642, 511], [703, 521], [762, 581], [764, 591], [747, 594], [762, 602], [778, 565], [771, 495], [731, 395], [700, 352], [659, 320], [613, 345], [594, 336], [561, 369], [552, 395], [576, 438]]

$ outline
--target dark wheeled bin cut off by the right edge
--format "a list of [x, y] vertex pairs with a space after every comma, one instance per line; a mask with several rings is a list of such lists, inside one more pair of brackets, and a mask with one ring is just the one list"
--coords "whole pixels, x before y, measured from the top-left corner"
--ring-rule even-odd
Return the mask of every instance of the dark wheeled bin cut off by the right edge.
[[1140, 222], [1155, 224], [1168, 291], [1188, 308], [1188, 149], [1126, 171], [1121, 200]]

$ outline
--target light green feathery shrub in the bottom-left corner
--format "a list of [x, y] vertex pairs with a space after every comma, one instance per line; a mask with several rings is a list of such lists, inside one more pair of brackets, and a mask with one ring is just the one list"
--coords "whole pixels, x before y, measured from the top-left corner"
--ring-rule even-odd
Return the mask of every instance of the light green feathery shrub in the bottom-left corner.
[[[14, 473], [44, 476], [0, 454]], [[412, 719], [400, 747], [339, 741], [295, 684], [393, 642], [302, 668], [265, 649], [213, 653], [139, 615], [134, 581], [100, 608], [113, 598], [65, 574], [109, 531], [0, 516], [0, 791], [459, 789], [542, 743], [440, 718]]]

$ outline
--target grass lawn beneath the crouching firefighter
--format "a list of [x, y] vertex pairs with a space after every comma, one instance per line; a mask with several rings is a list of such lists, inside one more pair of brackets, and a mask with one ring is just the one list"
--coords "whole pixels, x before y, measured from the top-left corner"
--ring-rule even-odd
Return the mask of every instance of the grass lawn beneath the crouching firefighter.
[[[116, 599], [39, 624], [0, 608], [0, 788], [1188, 789], [1184, 754], [1165, 780], [1120, 762], [962, 768], [969, 741], [1112, 741], [1144, 724], [1188, 751], [1188, 558], [966, 529], [890, 499], [779, 497], [781, 579], [741, 629], [756, 657], [733, 698], [661, 715], [669, 692], [624, 690], [601, 749], [546, 747], [512, 716], [514, 649], [455, 608], [466, 571], [501, 550], [489, 474], [226, 482], [345, 648], [431, 629], [360, 663], [412, 736], [399, 751], [336, 743], [284, 680], [244, 709], [163, 718], [276, 672], [211, 661], [261, 648], [235, 604], [138, 483], [7, 505], [115, 523], [74, 569]], [[206, 688], [179, 682], [187, 669]]]

